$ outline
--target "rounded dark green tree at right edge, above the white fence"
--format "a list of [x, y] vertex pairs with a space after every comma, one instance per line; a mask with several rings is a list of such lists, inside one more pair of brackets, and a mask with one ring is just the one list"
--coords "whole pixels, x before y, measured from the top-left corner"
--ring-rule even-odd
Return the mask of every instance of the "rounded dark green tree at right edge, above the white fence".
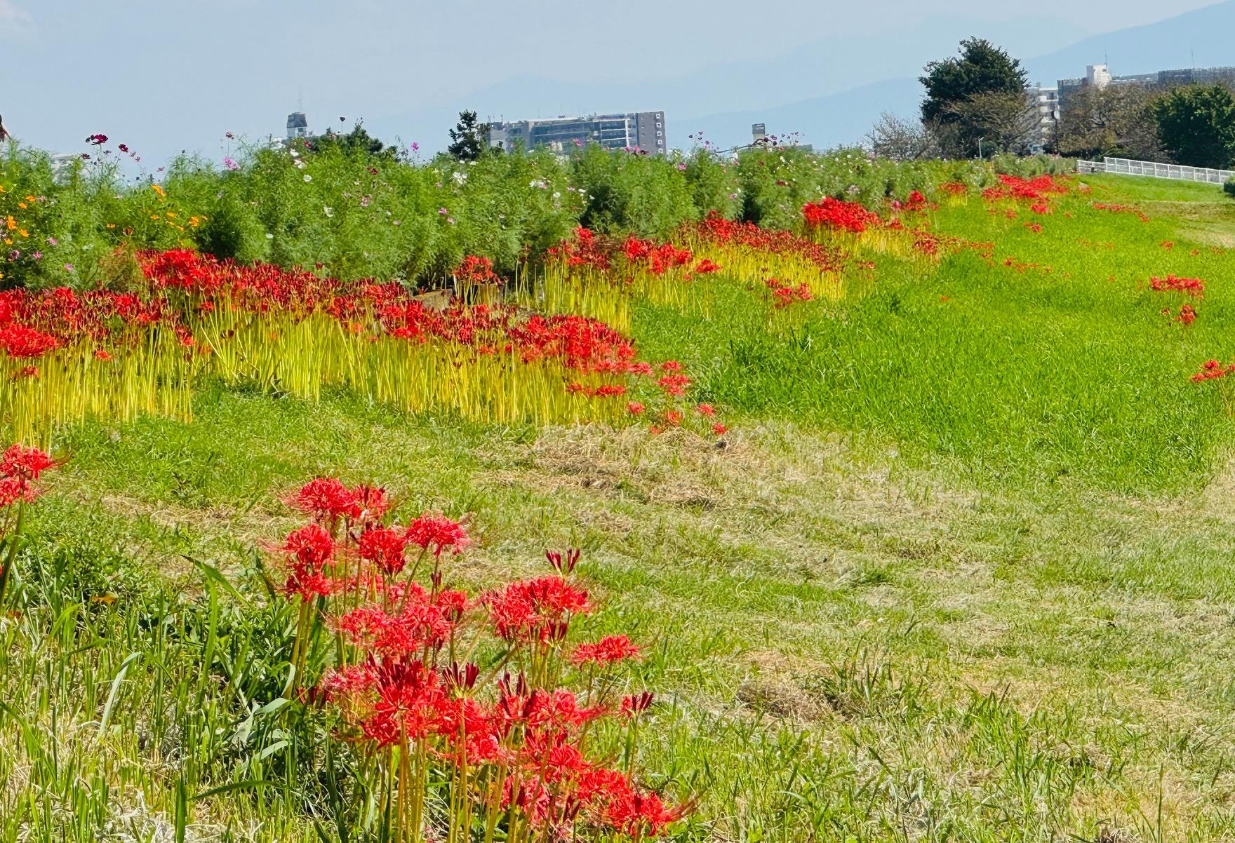
[[1176, 88], [1153, 104], [1153, 118], [1177, 163], [1223, 169], [1235, 160], [1235, 95], [1226, 88]]

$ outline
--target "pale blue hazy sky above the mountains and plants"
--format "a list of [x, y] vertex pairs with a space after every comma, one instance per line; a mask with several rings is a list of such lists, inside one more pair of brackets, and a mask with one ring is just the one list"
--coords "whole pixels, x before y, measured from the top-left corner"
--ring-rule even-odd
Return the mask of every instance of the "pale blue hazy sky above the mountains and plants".
[[[0, 114], [19, 138], [52, 148], [75, 151], [88, 133], [128, 131], [131, 144], [147, 141], [161, 154], [173, 142], [212, 153], [211, 138], [226, 130], [280, 132], [301, 94], [312, 114], [351, 121], [452, 102], [527, 74], [671, 79], [926, 17], [963, 19], [960, 38], [969, 35], [965, 21], [1067, 20], [1083, 7], [1084, 28], [1061, 27], [1062, 47], [1204, 5], [1209, 0], [1037, 0], [1032, 10], [967, 0], [0, 0]], [[878, 78], [879, 58], [871, 64]]]

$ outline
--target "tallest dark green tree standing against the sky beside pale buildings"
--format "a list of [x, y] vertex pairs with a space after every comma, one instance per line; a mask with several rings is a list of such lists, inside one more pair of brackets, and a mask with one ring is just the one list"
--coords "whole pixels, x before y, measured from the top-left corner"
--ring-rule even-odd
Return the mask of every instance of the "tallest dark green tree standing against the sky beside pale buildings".
[[[984, 38], [966, 38], [960, 56], [931, 62], [919, 78], [926, 89], [923, 123], [948, 154], [976, 154], [983, 136], [1008, 133], [1013, 96], [1029, 110], [1025, 80], [1018, 59]], [[995, 118], [997, 125], [984, 123], [986, 118]]]

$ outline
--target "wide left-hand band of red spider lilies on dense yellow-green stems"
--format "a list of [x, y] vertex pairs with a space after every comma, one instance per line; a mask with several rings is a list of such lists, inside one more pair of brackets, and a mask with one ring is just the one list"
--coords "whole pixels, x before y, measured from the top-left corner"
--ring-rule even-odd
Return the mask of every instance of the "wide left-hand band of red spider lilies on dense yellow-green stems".
[[[629, 338], [595, 318], [462, 300], [437, 309], [398, 284], [189, 251], [137, 257], [146, 281], [131, 291], [0, 293], [0, 413], [17, 420], [16, 433], [46, 434], [48, 423], [85, 415], [186, 415], [203, 373], [310, 399], [338, 384], [479, 420], [616, 420], [621, 407], [605, 399], [651, 372]], [[490, 284], [482, 258], [462, 270]], [[40, 385], [53, 370], [57, 380]]]

